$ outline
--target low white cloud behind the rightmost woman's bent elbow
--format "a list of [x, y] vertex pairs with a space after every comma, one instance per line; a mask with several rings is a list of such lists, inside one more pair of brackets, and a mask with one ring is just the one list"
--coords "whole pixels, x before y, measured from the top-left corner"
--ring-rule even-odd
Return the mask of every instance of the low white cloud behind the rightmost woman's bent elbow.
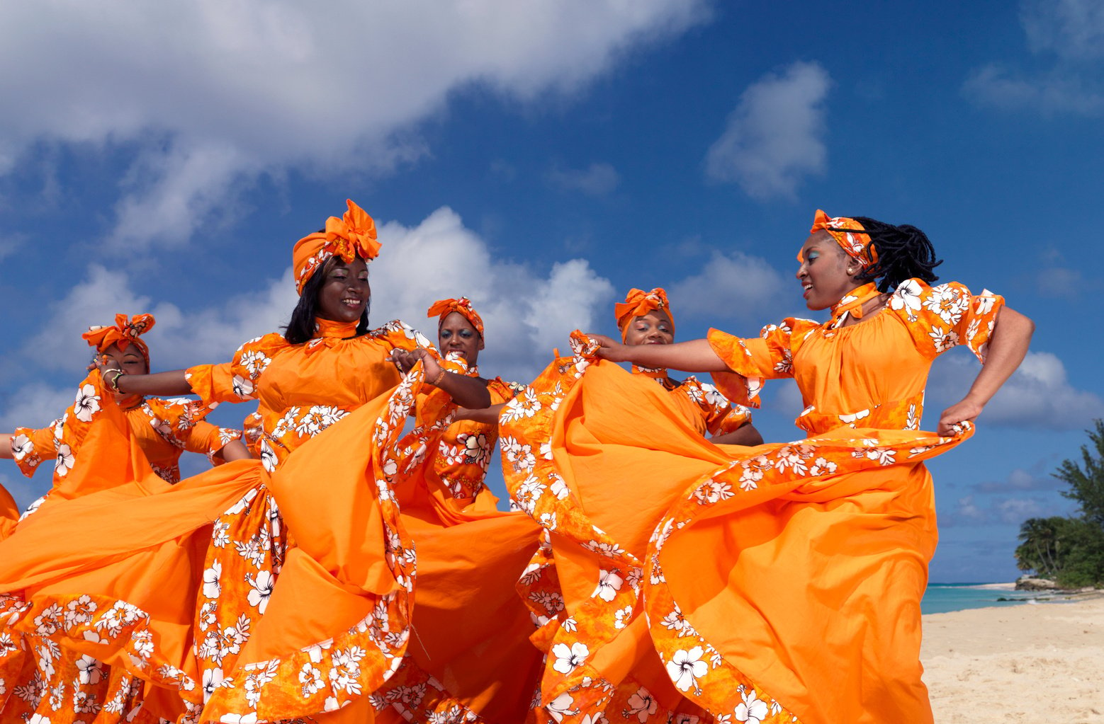
[[[928, 420], [965, 396], [979, 366], [966, 354], [945, 355], [935, 363], [928, 381]], [[1073, 387], [1062, 360], [1049, 352], [1029, 352], [1023, 364], [994, 396], [978, 424], [1027, 429], [1082, 430], [1104, 417], [1098, 395]]]

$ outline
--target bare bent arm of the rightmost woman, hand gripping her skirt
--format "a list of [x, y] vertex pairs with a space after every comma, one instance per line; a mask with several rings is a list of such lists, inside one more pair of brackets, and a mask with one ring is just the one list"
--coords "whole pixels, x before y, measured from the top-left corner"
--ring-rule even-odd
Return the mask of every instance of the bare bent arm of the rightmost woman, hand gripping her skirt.
[[948, 435], [952, 425], [964, 421], [973, 422], [980, 414], [986, 403], [1023, 361], [1033, 332], [1034, 322], [1016, 310], [1006, 306], [997, 313], [997, 323], [989, 336], [989, 350], [981, 371], [974, 379], [966, 397], [940, 415], [936, 432]]

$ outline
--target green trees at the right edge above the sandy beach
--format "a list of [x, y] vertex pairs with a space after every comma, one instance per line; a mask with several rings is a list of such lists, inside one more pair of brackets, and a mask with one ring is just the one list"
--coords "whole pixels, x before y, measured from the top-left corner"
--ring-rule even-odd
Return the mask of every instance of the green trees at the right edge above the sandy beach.
[[1082, 465], [1065, 460], [1054, 477], [1069, 484], [1062, 495], [1076, 500], [1075, 518], [1031, 518], [1020, 526], [1016, 565], [1053, 579], [1066, 588], [1104, 585], [1104, 421], [1090, 430]]

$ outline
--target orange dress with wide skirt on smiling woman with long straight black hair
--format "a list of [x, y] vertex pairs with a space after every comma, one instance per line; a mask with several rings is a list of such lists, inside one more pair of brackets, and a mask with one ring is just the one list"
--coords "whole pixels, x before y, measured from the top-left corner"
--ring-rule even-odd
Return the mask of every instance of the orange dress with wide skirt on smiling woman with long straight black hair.
[[[388, 709], [509, 722], [528, 709], [539, 653], [513, 584], [537, 526], [481, 496], [454, 505], [427, 475], [450, 402], [425, 386], [426, 424], [404, 435], [422, 368], [400, 379], [386, 361], [424, 337], [320, 325], [304, 345], [268, 335], [189, 370], [206, 401], [259, 400], [246, 425], [259, 461], [166, 491], [115, 455], [134, 484], [47, 501], [0, 542], [0, 631], [95, 650], [153, 684], [145, 711], [170, 721], [363, 722]], [[130, 514], [108, 541], [56, 540], [108, 506]]]

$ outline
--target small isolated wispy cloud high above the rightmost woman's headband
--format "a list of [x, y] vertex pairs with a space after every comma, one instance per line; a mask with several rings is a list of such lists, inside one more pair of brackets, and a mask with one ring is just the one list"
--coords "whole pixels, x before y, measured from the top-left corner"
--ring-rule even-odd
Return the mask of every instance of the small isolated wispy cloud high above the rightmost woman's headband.
[[802, 179], [826, 169], [824, 101], [830, 86], [818, 63], [794, 63], [750, 86], [709, 149], [709, 177], [735, 182], [756, 199], [793, 197]]

